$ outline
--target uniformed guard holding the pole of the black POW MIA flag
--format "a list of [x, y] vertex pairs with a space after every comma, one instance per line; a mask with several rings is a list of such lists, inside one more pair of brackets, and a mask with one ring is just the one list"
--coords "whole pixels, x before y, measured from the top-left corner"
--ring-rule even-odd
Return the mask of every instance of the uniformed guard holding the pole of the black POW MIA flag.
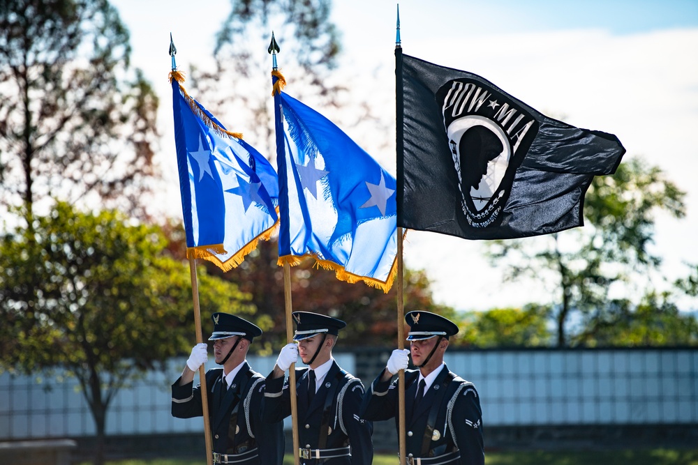
[[405, 372], [407, 460], [401, 464], [484, 464], [480, 397], [473, 383], [450, 372], [443, 363], [448, 338], [458, 333], [458, 326], [429, 312], [409, 312], [405, 320], [410, 325], [410, 350], [392, 352], [366, 392], [362, 418], [394, 417], [399, 428], [398, 380], [391, 380], [408, 367], [411, 353], [419, 369]]

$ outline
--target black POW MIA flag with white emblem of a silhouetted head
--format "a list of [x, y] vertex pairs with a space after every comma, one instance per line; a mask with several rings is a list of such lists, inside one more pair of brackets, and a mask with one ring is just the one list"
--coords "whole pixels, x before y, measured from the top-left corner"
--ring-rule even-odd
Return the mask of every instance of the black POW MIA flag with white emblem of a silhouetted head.
[[593, 176], [613, 174], [614, 135], [537, 112], [487, 79], [396, 50], [397, 221], [466, 239], [584, 224]]

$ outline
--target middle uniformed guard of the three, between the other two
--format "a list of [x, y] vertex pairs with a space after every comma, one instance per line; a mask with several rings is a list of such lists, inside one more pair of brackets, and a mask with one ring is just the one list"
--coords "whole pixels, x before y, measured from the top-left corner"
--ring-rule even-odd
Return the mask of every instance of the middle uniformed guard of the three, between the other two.
[[264, 418], [279, 421], [291, 413], [290, 390], [284, 374], [298, 356], [309, 368], [296, 368], [296, 395], [300, 439], [299, 455], [305, 465], [370, 465], [373, 461], [373, 425], [359, 418], [364, 386], [332, 358], [344, 321], [309, 312], [293, 312], [298, 344], [281, 349], [267, 376]]

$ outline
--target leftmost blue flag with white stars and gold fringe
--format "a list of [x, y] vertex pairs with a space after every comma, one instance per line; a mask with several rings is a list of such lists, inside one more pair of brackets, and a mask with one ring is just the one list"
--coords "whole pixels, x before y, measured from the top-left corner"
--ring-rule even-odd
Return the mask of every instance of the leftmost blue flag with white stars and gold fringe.
[[186, 255], [227, 271], [272, 234], [279, 186], [274, 168], [187, 95], [173, 71], [172, 105]]

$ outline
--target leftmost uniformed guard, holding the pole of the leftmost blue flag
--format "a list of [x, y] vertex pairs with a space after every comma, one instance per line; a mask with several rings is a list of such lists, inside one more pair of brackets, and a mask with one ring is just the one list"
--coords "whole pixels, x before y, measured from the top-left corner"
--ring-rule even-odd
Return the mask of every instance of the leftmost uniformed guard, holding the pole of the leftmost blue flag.
[[[206, 372], [214, 463], [281, 465], [283, 423], [262, 422], [265, 379], [247, 363], [247, 351], [262, 330], [235, 315], [214, 313], [216, 363]], [[201, 386], [193, 387], [194, 372], [207, 360], [206, 344], [191, 349], [186, 367], [172, 385], [172, 416], [202, 416]]]

